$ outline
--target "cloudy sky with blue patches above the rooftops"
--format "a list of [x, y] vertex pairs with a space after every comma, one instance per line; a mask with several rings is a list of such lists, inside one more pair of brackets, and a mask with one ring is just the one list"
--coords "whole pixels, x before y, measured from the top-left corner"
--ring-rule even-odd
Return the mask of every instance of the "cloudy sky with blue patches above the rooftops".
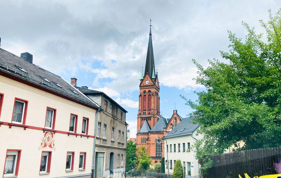
[[192, 110], [180, 94], [195, 100], [204, 90], [192, 80], [194, 58], [221, 59], [231, 30], [243, 38], [246, 21], [264, 31], [281, 1], [0, 1], [1, 48], [16, 55], [33, 54], [33, 63], [78, 86], [101, 90], [127, 111], [131, 137], [136, 134], [138, 86], [145, 66], [152, 19], [155, 67], [160, 80], [160, 108], [169, 118], [177, 103], [184, 117]]

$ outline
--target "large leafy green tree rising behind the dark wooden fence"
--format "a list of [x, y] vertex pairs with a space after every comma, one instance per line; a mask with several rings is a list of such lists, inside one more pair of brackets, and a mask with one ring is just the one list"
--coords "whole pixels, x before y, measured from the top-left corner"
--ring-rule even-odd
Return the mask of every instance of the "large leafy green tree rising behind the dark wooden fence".
[[275, 16], [269, 10], [269, 21], [260, 24], [266, 38], [245, 22], [244, 42], [228, 31], [230, 51], [220, 52], [225, 63], [208, 60], [204, 68], [193, 59], [195, 81], [206, 89], [195, 91], [195, 102], [182, 98], [197, 114], [192, 122], [201, 124], [198, 133], [204, 136], [193, 149], [203, 170], [212, 166], [208, 156], [231, 145], [235, 150], [281, 145], [281, 9]]

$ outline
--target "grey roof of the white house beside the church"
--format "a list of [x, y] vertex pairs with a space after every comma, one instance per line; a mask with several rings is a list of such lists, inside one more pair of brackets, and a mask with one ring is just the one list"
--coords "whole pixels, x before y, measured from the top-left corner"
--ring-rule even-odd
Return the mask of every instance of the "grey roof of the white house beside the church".
[[[191, 117], [183, 118], [182, 121], [163, 138], [166, 139], [175, 136], [191, 134], [200, 126], [200, 124], [191, 124], [189, 123], [190, 121]], [[182, 129], [184, 130], [181, 132]]]

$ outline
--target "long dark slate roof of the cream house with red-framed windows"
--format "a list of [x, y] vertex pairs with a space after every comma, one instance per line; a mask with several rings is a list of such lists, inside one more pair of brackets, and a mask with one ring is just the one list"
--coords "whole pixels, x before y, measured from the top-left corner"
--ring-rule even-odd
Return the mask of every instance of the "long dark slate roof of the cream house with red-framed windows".
[[[21, 67], [27, 73], [20, 70]], [[62, 77], [53, 74], [41, 67], [27, 62], [23, 58], [16, 56], [0, 48], [0, 72], [23, 79], [31, 84], [43, 87], [51, 92], [64, 95], [68, 99], [78, 101], [90, 107], [99, 108], [99, 106], [84, 96], [79, 90], [66, 82]], [[47, 79], [49, 82], [47, 82]], [[55, 83], [54, 83], [55, 82]], [[58, 85], [57, 85], [58, 84]], [[76, 92], [76, 93], [75, 93]]]

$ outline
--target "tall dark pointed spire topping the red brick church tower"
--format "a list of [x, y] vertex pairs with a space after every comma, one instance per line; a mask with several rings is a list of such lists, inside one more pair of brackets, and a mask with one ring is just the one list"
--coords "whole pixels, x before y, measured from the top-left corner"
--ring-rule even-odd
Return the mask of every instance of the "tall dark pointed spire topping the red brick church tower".
[[153, 47], [152, 47], [151, 24], [149, 26], [150, 26], [150, 31], [149, 31], [149, 40], [148, 40], [147, 56], [146, 56], [146, 63], [145, 63], [145, 73], [148, 73], [149, 77], [152, 78], [153, 71], [155, 75], [155, 67], [154, 67], [154, 55], [153, 55]]

